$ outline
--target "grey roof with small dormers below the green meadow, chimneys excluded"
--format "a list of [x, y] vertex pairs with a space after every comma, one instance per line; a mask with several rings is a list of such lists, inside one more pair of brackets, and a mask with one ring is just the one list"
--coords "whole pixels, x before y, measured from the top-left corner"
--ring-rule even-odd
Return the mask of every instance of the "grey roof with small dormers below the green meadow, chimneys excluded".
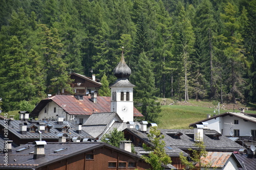
[[[142, 133], [136, 129], [126, 129], [133, 133], [134, 135], [141, 138], [145, 143], [150, 143], [147, 138], [147, 133]], [[196, 149], [194, 137], [189, 136], [194, 135], [194, 129], [159, 129], [164, 135], [164, 141], [166, 146], [170, 148], [178, 148], [181, 150], [187, 150], [188, 148]], [[175, 139], [170, 137], [168, 134], [175, 134], [181, 132], [183, 135], [180, 139]], [[227, 138], [226, 136], [220, 136], [219, 140], [212, 139], [210, 136], [218, 133], [216, 130], [204, 129], [203, 141], [206, 146], [207, 151], [223, 151], [223, 152], [233, 152], [239, 151], [241, 145]]]

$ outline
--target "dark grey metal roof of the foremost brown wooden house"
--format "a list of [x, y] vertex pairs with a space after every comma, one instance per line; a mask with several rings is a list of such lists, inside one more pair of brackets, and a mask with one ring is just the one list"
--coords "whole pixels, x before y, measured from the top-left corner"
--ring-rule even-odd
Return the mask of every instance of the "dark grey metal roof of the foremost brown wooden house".
[[[129, 155], [133, 158], [140, 159], [141, 161], [143, 161], [138, 155], [121, 150], [119, 148], [113, 147], [112, 145], [103, 142], [48, 142], [45, 145], [45, 157], [33, 159], [33, 154], [29, 153], [34, 152], [34, 144], [28, 143], [20, 147], [17, 147], [13, 149], [11, 153], [8, 153], [8, 168], [39, 168], [47, 164], [58, 162], [63, 159], [70, 158], [75, 155], [79, 155], [81, 153], [89, 152], [102, 147], [110, 148], [124, 155]], [[16, 152], [18, 149], [22, 148], [27, 149], [20, 152]], [[54, 153], [54, 151], [62, 148], [67, 149]], [[3, 156], [3, 154], [0, 154], [0, 157]], [[3, 162], [0, 162], [0, 168], [6, 168]]]

